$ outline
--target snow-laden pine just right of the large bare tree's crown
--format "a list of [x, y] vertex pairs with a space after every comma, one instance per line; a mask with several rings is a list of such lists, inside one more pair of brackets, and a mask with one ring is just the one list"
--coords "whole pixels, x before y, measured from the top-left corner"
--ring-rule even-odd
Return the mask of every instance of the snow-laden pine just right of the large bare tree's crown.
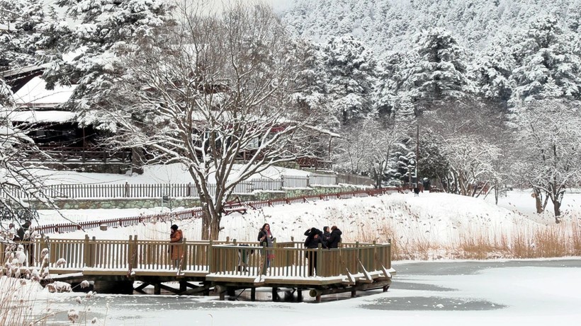
[[323, 51], [335, 117], [349, 124], [372, 115], [376, 81], [373, 53], [352, 36], [334, 37]]

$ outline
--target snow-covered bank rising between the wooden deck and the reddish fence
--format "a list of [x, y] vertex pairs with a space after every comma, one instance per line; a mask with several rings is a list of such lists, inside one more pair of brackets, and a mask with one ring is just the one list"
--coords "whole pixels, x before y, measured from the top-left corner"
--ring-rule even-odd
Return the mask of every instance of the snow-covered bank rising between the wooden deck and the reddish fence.
[[[515, 193], [516, 195], [519, 192]], [[526, 197], [518, 200], [526, 200]], [[530, 199], [530, 196], [529, 196]], [[570, 196], [570, 202], [575, 197]], [[515, 204], [517, 202], [514, 202]], [[506, 204], [506, 203], [505, 203]], [[529, 200], [529, 204], [533, 202]], [[518, 204], [524, 206], [525, 203]], [[577, 213], [569, 214], [579, 217]], [[80, 211], [69, 211], [79, 214]], [[108, 217], [122, 215], [123, 210], [115, 212], [101, 211]], [[65, 214], [67, 212], [65, 211]], [[125, 214], [136, 215], [137, 210], [127, 210]], [[127, 215], [126, 215], [127, 216]], [[546, 221], [551, 221], [547, 219]], [[201, 221], [186, 220], [176, 222], [190, 240], [200, 238]], [[413, 194], [390, 194], [381, 197], [335, 199], [305, 204], [265, 207], [250, 210], [247, 214], [224, 216], [220, 240], [237, 239], [254, 241], [263, 223], [270, 223], [273, 235], [278, 241], [304, 240], [303, 233], [312, 226], [336, 225], [343, 232], [343, 240], [387, 241], [393, 239], [400, 245], [401, 255], [418, 257], [455, 257], [461, 255], [458, 246], [466, 241], [478, 239], [495, 244], [499, 239], [508, 243], [523, 237], [534, 235], [536, 231], [551, 229], [552, 223], [538, 223], [519, 212], [489, 204], [482, 199], [458, 196], [453, 194], [427, 193], [414, 197]], [[109, 231], [91, 230], [89, 235], [96, 238], [125, 239], [137, 235], [140, 239], [164, 240], [169, 237], [171, 223], [156, 223], [126, 228], [114, 228]], [[84, 233], [64, 233], [50, 235], [53, 238], [84, 238]], [[530, 238], [529, 245], [534, 240]]]

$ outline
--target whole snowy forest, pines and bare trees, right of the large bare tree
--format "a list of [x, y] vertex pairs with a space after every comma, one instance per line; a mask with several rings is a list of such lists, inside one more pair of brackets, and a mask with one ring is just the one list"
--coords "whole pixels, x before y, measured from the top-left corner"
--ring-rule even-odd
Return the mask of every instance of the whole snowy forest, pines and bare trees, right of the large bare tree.
[[514, 182], [556, 215], [580, 184], [581, 1], [296, 0], [281, 16], [320, 49], [337, 168], [473, 196]]

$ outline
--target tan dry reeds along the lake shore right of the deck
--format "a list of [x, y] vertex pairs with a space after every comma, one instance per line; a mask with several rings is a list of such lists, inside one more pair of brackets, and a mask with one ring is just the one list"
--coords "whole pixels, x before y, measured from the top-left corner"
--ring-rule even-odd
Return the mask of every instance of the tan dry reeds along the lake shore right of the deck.
[[361, 232], [361, 241], [392, 240], [393, 260], [440, 258], [486, 260], [495, 258], [548, 258], [581, 255], [581, 217], [568, 216], [560, 224], [516, 226], [512, 231], [458, 231], [451, 243], [427, 240], [422, 234], [397, 232], [389, 225]]

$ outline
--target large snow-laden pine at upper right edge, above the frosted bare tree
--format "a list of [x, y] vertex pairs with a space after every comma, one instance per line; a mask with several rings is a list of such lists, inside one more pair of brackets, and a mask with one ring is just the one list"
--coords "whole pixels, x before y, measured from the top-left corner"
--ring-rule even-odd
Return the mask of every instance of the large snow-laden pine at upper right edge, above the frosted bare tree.
[[519, 100], [581, 99], [581, 56], [574, 50], [577, 35], [568, 32], [555, 16], [534, 18], [521, 35], [512, 55], [514, 96]]

